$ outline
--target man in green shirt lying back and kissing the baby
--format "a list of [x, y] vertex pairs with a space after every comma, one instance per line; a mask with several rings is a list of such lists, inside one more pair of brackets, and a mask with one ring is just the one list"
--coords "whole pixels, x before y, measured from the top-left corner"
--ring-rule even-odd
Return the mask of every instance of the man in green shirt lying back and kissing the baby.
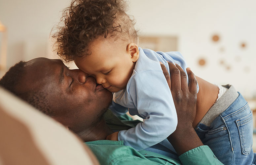
[[[188, 98], [196, 98], [196, 83], [190, 83], [188, 89], [187, 82], [182, 81], [186, 80], [184, 74], [179, 74], [183, 70], [177, 67], [170, 64], [172, 77], [176, 76], [172, 83], [166, 74], [167, 71], [164, 70], [170, 88], [172, 87], [178, 114], [177, 129], [168, 140], [180, 155], [183, 164], [221, 164], [210, 149], [203, 146], [192, 127], [196, 99]], [[195, 82], [193, 73], [188, 73], [190, 82]], [[113, 133], [113, 130], [121, 128], [117, 126], [128, 127], [135, 124], [122, 122], [108, 112], [108, 118], [105, 119], [111, 129], [103, 114], [112, 101], [112, 93], [97, 84], [94, 78], [86, 77], [81, 70], [68, 69], [60, 60], [37, 58], [19, 62], [3, 76], [0, 85], [50, 115], [88, 142], [101, 164], [180, 164], [175, 154], [168, 154], [173, 157], [166, 156], [165, 148], [161, 145], [136, 151], [123, 146], [122, 141], [104, 140], [107, 135]], [[115, 122], [111, 122], [110, 118]]]

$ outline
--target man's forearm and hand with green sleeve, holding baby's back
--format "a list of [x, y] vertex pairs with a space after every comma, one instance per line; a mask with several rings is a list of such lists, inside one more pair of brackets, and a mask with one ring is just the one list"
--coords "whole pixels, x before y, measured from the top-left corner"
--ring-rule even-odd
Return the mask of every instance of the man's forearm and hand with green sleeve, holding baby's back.
[[170, 75], [161, 64], [165, 78], [171, 90], [178, 124], [176, 130], [167, 138], [176, 150], [183, 164], [222, 164], [208, 146], [203, 146], [192, 123], [197, 109], [197, 80], [194, 73], [187, 68], [187, 76], [183, 69], [169, 63]]

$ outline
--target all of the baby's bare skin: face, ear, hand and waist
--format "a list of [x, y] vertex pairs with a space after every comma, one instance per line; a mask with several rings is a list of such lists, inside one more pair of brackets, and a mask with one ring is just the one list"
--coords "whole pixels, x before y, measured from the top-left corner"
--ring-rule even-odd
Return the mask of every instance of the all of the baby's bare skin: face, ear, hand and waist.
[[[121, 39], [99, 37], [89, 45], [91, 55], [75, 58], [79, 69], [93, 76], [98, 84], [110, 92], [118, 92], [126, 88], [128, 80], [139, 58], [138, 46]], [[197, 113], [193, 122], [195, 128], [203, 116], [215, 103], [219, 89], [200, 77], [196, 77], [199, 84], [197, 99]], [[108, 137], [117, 140], [117, 133]]]

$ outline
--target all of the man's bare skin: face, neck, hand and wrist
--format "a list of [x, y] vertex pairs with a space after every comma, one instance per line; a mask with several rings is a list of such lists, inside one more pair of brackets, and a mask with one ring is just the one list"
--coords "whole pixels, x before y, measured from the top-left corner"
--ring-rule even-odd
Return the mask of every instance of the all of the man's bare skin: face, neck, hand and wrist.
[[[182, 73], [177, 71], [177, 67], [170, 66], [172, 81], [166, 69], [164, 73], [175, 98], [174, 104], [178, 114], [177, 129], [168, 137], [168, 140], [177, 153], [182, 154], [202, 143], [192, 127], [196, 113], [196, 80], [191, 79], [194, 74], [188, 70], [190, 82], [194, 82], [188, 87], [185, 78], [182, 77], [184, 74], [181, 74], [180, 79], [177, 78]], [[62, 82], [60, 82], [61, 68], [64, 69]], [[27, 63], [26, 72], [22, 75], [23, 81], [20, 82], [18, 89], [20, 91], [43, 90], [48, 94], [47, 99], [51, 100], [50, 104], [55, 110], [53, 116], [55, 120], [73, 130], [85, 142], [104, 140], [113, 131], [99, 116], [109, 106], [112, 93], [102, 87], [98, 87], [95, 91], [97, 85], [95, 79], [85, 75], [81, 70], [66, 68], [60, 60], [37, 58]], [[74, 79], [73, 84], [71, 84], [72, 79]], [[71, 88], [69, 88], [70, 84]]]

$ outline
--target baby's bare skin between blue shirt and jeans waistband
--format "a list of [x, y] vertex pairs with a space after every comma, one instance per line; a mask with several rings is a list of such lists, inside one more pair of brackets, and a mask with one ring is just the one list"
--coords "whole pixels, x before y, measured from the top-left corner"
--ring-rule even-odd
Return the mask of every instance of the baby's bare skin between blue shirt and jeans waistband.
[[194, 128], [215, 103], [219, 94], [219, 88], [216, 85], [211, 84], [198, 76], [196, 76], [196, 78], [199, 85], [199, 92], [197, 94], [197, 114], [193, 122]]

